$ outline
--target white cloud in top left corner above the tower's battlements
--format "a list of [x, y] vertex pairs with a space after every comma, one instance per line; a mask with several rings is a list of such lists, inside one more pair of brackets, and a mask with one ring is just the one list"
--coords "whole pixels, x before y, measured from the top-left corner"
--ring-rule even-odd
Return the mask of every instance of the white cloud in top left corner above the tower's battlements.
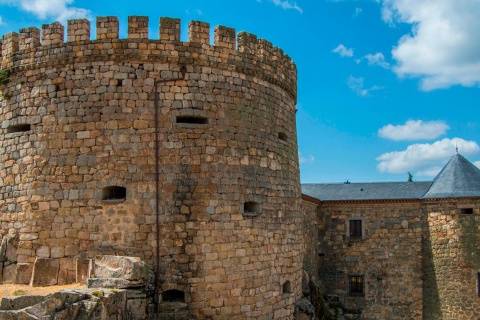
[[74, 0], [0, 0], [0, 4], [18, 7], [39, 19], [53, 18], [64, 22], [90, 16], [89, 10], [71, 7], [73, 2]]

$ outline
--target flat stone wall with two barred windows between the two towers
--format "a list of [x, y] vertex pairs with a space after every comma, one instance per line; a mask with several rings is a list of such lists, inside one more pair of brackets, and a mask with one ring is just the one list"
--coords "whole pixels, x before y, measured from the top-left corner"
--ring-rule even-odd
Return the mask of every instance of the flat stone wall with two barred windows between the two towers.
[[[422, 319], [420, 202], [322, 202], [319, 279], [330, 306], [361, 319]], [[362, 220], [350, 238], [348, 221]], [[349, 293], [363, 276], [364, 295]]]

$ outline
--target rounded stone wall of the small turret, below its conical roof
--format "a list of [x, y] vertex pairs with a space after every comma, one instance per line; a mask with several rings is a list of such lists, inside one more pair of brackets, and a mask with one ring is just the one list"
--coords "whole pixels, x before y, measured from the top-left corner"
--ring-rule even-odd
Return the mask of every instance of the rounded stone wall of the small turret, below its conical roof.
[[[473, 209], [462, 214], [462, 208]], [[480, 200], [428, 200], [424, 236], [424, 319], [480, 315]]]

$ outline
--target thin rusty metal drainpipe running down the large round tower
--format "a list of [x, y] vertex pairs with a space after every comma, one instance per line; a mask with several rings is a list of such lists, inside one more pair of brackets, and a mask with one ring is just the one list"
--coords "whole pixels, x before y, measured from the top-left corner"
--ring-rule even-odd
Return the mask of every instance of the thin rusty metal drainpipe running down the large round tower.
[[180, 66], [180, 72], [182, 74], [179, 78], [172, 79], [158, 79], [155, 80], [153, 86], [153, 92], [155, 98], [153, 100], [155, 108], [155, 214], [156, 214], [156, 233], [157, 233], [157, 263], [155, 266], [155, 305], [156, 305], [156, 319], [160, 319], [160, 163], [159, 163], [159, 141], [158, 141], [158, 89], [157, 86], [160, 83], [169, 81], [184, 80], [187, 73], [186, 66]]

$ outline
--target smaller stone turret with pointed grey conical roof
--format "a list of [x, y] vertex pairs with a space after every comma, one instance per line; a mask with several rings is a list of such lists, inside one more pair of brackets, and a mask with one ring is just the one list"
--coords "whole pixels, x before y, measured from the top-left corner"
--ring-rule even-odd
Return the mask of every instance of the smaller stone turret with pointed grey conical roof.
[[480, 314], [480, 170], [454, 155], [424, 196], [423, 319]]

